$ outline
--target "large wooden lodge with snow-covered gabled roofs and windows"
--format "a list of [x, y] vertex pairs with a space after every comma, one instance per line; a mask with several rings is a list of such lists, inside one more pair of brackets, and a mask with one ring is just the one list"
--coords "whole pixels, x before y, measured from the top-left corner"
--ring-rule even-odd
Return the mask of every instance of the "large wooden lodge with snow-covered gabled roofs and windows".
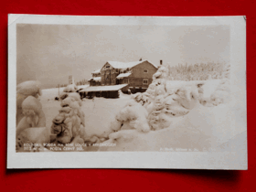
[[[122, 63], [122, 62], [106, 62], [101, 69], [92, 72], [92, 78], [89, 80], [90, 86], [112, 86], [120, 84], [128, 84], [122, 91], [128, 92], [144, 92], [152, 83], [153, 75], [158, 68], [148, 60], [137, 62]], [[130, 90], [130, 91], [129, 91]], [[90, 93], [95, 96], [103, 97], [116, 96], [116, 93], [105, 95], [107, 93]]]

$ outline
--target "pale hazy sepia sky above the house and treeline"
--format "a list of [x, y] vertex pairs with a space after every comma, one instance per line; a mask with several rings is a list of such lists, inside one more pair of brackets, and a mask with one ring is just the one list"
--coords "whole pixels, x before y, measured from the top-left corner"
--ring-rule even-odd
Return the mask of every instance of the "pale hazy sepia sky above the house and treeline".
[[229, 27], [16, 26], [16, 80], [42, 88], [89, 80], [107, 61], [147, 59], [155, 65], [229, 62]]

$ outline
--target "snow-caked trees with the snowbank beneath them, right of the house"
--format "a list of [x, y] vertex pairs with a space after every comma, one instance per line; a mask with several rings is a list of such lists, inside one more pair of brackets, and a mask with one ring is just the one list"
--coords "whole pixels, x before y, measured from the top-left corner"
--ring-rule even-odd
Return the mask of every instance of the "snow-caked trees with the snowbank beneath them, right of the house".
[[161, 66], [147, 91], [132, 95], [103, 143], [115, 146], [102, 151], [161, 151], [163, 147], [203, 151], [235, 133], [230, 127], [235, 117], [229, 105], [229, 67], [221, 80], [166, 80], [167, 73]]

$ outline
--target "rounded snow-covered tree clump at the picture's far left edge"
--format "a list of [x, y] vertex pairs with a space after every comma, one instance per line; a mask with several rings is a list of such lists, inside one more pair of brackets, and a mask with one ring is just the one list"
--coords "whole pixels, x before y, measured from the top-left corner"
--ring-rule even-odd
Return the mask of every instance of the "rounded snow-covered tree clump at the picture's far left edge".
[[[37, 132], [37, 127], [46, 126], [45, 113], [42, 104], [37, 97], [42, 94], [37, 81], [22, 82], [16, 87], [16, 151], [23, 151], [26, 142], [35, 142], [38, 138], [42, 142], [42, 137], [29, 134]], [[36, 138], [37, 137], [37, 138]]]

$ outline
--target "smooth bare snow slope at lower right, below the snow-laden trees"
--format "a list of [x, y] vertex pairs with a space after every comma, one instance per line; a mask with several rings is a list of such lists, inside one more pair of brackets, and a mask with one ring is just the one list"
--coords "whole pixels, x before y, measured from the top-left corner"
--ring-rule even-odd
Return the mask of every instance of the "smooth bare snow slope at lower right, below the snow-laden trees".
[[[239, 112], [239, 113], [238, 113]], [[246, 113], [230, 104], [219, 104], [216, 107], [197, 107], [182, 117], [180, 121], [159, 131], [139, 133], [136, 130], [123, 130], [112, 133], [112, 147], [101, 147], [101, 151], [165, 151], [181, 147], [185, 150], [202, 150], [206, 146], [210, 150], [219, 151], [219, 145], [229, 143], [240, 133], [242, 142], [246, 142]], [[200, 140], [203, 133], [207, 142]], [[204, 138], [203, 138], [204, 139]], [[227, 150], [236, 150], [229, 147]], [[178, 149], [179, 150], [179, 149]], [[223, 150], [222, 150], [223, 151]]]

